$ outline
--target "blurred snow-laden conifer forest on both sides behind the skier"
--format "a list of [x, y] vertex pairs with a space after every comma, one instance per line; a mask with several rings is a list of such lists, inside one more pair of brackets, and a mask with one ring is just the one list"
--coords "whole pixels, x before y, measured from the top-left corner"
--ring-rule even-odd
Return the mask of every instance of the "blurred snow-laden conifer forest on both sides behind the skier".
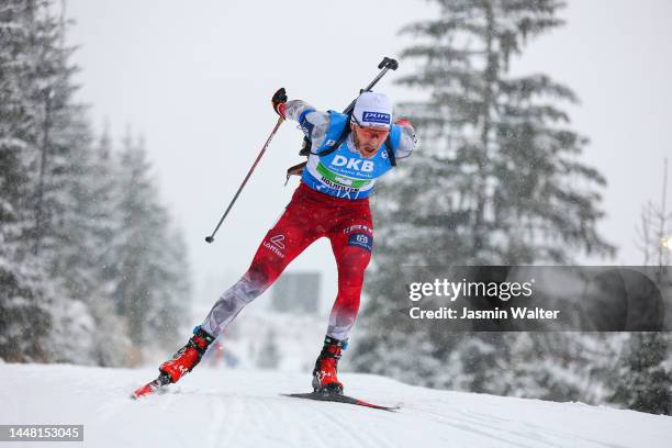
[[[616, 247], [596, 231], [607, 180], [581, 161], [587, 136], [569, 86], [509, 75], [512, 56], [563, 24], [553, 0], [436, 0], [402, 32], [419, 69], [399, 82], [418, 150], [378, 187], [371, 298], [350, 367], [413, 384], [672, 412], [663, 333], [423, 334], [391, 326], [399, 265], [571, 265]], [[173, 349], [190, 307], [187, 249], [160, 203], [139, 133], [94, 135], [54, 0], [0, 5], [0, 358], [135, 366]], [[661, 160], [662, 165], [662, 160]], [[652, 173], [658, 176], [658, 173]], [[662, 197], [642, 210], [645, 264], [669, 265]], [[437, 249], [437, 248], [440, 248]], [[668, 282], [670, 279], [667, 280]], [[395, 321], [396, 322], [396, 321]]]

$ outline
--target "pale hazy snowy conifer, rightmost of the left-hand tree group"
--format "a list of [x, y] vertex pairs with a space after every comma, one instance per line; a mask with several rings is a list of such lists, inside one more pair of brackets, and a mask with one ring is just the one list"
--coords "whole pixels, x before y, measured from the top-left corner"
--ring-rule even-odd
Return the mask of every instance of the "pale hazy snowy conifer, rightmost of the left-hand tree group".
[[179, 313], [189, 303], [183, 242], [171, 233], [142, 139], [124, 137], [120, 157], [120, 226], [110, 242], [114, 300], [135, 344], [172, 345]]

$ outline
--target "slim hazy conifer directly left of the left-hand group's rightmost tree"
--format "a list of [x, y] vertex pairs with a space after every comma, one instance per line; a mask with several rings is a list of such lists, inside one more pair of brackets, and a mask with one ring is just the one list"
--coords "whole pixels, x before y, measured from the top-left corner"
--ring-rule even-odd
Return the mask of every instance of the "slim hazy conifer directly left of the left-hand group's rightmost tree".
[[70, 182], [72, 213], [67, 223], [70, 244], [60, 253], [69, 266], [65, 273], [70, 296], [86, 303], [96, 331], [91, 332], [90, 358], [99, 366], [123, 366], [130, 340], [125, 321], [116, 314], [113, 299], [113, 259], [110, 242], [120, 224], [115, 216], [119, 179], [109, 131], [88, 145], [74, 164], [78, 176]]

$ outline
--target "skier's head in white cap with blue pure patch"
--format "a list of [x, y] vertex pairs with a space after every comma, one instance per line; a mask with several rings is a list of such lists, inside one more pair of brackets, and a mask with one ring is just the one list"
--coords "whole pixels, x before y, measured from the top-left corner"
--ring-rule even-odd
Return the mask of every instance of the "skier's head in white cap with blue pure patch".
[[392, 102], [384, 93], [363, 92], [355, 102], [350, 130], [362, 157], [371, 158], [390, 134]]

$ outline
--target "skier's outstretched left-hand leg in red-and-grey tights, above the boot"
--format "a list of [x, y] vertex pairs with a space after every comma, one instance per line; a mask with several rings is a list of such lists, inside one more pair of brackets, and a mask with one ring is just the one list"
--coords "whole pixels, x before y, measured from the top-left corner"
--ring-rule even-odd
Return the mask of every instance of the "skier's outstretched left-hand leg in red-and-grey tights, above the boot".
[[278, 223], [264, 237], [249, 269], [224, 291], [201, 327], [220, 335], [236, 315], [266, 291], [284, 268], [321, 235], [311, 226], [302, 203], [290, 203]]

